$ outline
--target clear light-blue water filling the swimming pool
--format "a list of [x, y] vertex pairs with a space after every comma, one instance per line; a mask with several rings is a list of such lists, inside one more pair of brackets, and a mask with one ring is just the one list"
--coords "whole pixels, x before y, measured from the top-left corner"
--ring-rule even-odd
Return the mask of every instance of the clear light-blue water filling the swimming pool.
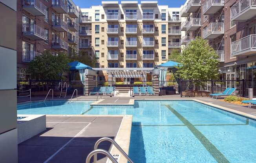
[[133, 115], [129, 156], [135, 163], [255, 163], [256, 121], [195, 101], [91, 101], [18, 105], [18, 114]]

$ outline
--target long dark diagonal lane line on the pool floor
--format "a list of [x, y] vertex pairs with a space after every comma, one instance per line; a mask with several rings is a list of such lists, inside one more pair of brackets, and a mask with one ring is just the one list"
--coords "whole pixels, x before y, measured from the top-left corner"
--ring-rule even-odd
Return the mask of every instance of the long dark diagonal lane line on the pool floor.
[[179, 114], [175, 109], [169, 105], [165, 105], [180, 121], [182, 121], [188, 129], [196, 136], [196, 138], [202, 143], [206, 150], [212, 155], [218, 163], [229, 163], [225, 156], [199, 131], [190, 123], [186, 118]]

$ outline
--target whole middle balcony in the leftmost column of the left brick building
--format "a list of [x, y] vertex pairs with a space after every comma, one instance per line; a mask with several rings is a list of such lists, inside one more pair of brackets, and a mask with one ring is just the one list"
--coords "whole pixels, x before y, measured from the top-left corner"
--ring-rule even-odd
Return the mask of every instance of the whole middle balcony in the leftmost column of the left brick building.
[[32, 40], [46, 40], [46, 31], [35, 24], [23, 24], [22, 34]]

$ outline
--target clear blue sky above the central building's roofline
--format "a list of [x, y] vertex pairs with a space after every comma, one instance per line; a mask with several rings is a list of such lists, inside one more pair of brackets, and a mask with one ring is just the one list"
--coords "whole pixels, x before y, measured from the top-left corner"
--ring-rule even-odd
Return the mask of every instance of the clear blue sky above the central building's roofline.
[[[117, 1], [117, 0], [73, 0], [80, 8], [89, 8], [92, 5], [101, 5], [101, 1]], [[123, 0], [125, 1], [125, 0]], [[131, 0], [129, 0], [131, 1]], [[140, 3], [140, 0], [137, 0]], [[168, 5], [169, 7], [180, 7], [186, 0], [157, 0], [159, 5]], [[119, 0], [121, 3], [121, 0]]]

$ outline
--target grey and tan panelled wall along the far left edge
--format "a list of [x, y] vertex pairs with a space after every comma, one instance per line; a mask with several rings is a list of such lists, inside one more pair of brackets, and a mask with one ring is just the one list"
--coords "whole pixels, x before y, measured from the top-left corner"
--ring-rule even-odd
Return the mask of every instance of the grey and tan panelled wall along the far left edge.
[[18, 162], [16, 0], [0, 0], [0, 162]]

